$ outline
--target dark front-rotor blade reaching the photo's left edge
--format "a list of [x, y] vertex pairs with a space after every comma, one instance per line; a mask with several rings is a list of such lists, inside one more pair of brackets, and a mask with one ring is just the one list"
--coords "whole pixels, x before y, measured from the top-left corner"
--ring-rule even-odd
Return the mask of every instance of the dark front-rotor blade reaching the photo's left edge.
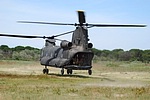
[[6, 36], [6, 37], [18, 37], [18, 38], [47, 38], [45, 36], [27, 36], [27, 35], [11, 35], [11, 34], [1, 34], [0, 36]]

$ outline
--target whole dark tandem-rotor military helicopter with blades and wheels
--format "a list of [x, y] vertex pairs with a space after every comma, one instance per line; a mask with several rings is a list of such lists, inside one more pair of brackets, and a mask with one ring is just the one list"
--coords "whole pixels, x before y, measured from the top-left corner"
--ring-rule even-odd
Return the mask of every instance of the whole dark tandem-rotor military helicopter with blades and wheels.
[[[46, 36], [26, 36], [26, 35], [10, 35], [0, 34], [0, 36], [18, 37], [18, 38], [43, 38], [45, 40], [45, 47], [41, 50], [40, 63], [44, 65], [44, 74], [49, 73], [48, 67], [61, 68], [61, 74], [64, 75], [64, 69], [67, 74], [72, 74], [73, 70], [87, 70], [88, 74], [92, 74], [92, 59], [93, 52], [91, 48], [92, 43], [89, 43], [88, 28], [92, 27], [146, 27], [146, 25], [108, 25], [108, 24], [88, 24], [86, 23], [84, 11], [78, 12], [79, 23], [48, 23], [48, 22], [33, 22], [33, 21], [19, 21], [20, 23], [34, 23], [34, 24], [51, 24], [51, 25], [71, 25], [75, 26], [74, 31], [69, 31], [59, 35], [50, 37]], [[72, 34], [72, 41], [61, 40], [60, 46], [56, 46], [56, 37]]]

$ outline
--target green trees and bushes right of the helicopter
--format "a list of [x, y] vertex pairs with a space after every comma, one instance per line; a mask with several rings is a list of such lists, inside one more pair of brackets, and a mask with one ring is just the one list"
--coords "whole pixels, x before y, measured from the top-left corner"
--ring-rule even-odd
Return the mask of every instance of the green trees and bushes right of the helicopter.
[[131, 49], [124, 51], [123, 49], [114, 50], [98, 50], [93, 48], [94, 59], [101, 61], [141, 61], [150, 62], [150, 50]]

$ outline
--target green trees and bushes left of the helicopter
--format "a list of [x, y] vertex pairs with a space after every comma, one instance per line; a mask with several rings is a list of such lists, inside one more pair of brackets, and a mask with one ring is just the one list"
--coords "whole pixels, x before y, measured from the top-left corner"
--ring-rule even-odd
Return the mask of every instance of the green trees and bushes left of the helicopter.
[[39, 60], [40, 49], [30, 46], [0, 46], [0, 60]]

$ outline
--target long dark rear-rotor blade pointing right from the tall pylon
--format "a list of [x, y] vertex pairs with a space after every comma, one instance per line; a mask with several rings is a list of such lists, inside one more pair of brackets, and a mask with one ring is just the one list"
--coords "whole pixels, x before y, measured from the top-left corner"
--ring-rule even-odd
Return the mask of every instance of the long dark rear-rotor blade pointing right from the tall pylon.
[[107, 25], [107, 24], [88, 24], [90, 27], [146, 27], [146, 25]]

